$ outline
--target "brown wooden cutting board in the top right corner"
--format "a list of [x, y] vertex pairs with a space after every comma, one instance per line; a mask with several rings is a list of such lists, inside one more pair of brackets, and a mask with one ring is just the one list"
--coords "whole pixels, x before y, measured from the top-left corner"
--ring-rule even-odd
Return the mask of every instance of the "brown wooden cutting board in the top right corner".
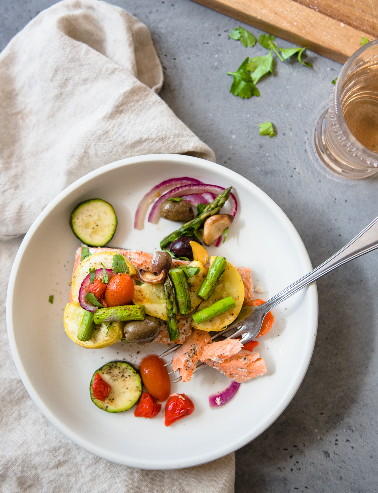
[[378, 37], [378, 0], [194, 1], [340, 63]]

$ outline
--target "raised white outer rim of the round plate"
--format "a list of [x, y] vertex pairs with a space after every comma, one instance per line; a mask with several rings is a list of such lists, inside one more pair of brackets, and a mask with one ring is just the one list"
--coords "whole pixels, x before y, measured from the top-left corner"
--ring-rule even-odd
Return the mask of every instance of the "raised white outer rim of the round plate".
[[[287, 217], [287, 215], [282, 211], [282, 209], [275, 203], [275, 201], [269, 197], [268, 194], [266, 194], [263, 190], [261, 190], [257, 185], [249, 181], [247, 178], [244, 176], [239, 175], [239, 173], [230, 170], [228, 168], [225, 168], [222, 165], [219, 165], [217, 163], [213, 163], [212, 161], [207, 161], [202, 158], [194, 157], [194, 156], [188, 156], [188, 155], [183, 155], [183, 154], [143, 154], [140, 156], [134, 156], [134, 157], [129, 157], [129, 158], [124, 158], [120, 159], [118, 161], [114, 161], [112, 163], [106, 164], [101, 166], [100, 168], [97, 168], [96, 170], [93, 170], [92, 172], [82, 176], [81, 178], [78, 178], [76, 181], [71, 183], [67, 188], [62, 190], [62, 192], [57, 195], [44, 209], [39, 213], [39, 215], [36, 217], [34, 220], [32, 226], [29, 228], [28, 232], [26, 233], [25, 237], [23, 238], [21, 245], [17, 251], [17, 254], [15, 256], [15, 259], [13, 261], [12, 269], [10, 272], [9, 276], [9, 282], [8, 282], [8, 287], [7, 287], [7, 294], [6, 294], [6, 326], [7, 326], [7, 334], [8, 334], [8, 341], [9, 341], [9, 346], [11, 350], [11, 354], [16, 366], [16, 369], [19, 373], [19, 376], [21, 378], [21, 381], [26, 388], [27, 392], [29, 393], [30, 397], [34, 401], [34, 404], [38, 407], [38, 409], [41, 411], [41, 413], [45, 416], [45, 418], [53, 424], [64, 436], [69, 438], [74, 444], [78, 445], [79, 447], [83, 448], [87, 452], [90, 452], [91, 454], [94, 454], [97, 457], [109, 460], [111, 462], [115, 462], [118, 464], [122, 465], [127, 465], [129, 467], [135, 467], [139, 469], [148, 469], [148, 470], [166, 470], [166, 469], [181, 469], [181, 468], [186, 468], [186, 467], [193, 467], [196, 465], [204, 464], [206, 462], [210, 462], [212, 460], [215, 460], [217, 458], [224, 457], [232, 452], [235, 452], [236, 450], [240, 449], [247, 443], [251, 442], [255, 438], [257, 438], [261, 433], [263, 433], [269, 426], [271, 426], [275, 420], [282, 414], [282, 412], [286, 409], [286, 407], [289, 405], [295, 394], [297, 393], [306, 373], [309, 367], [309, 363], [311, 360], [312, 352], [315, 346], [315, 341], [316, 341], [316, 332], [317, 332], [317, 325], [318, 325], [318, 297], [317, 297], [317, 288], [316, 288], [316, 283], [310, 284], [307, 288], [307, 293], [306, 296], [309, 296], [309, 302], [310, 302], [310, 307], [311, 310], [314, 312], [312, 317], [310, 317], [312, 321], [312, 333], [313, 333], [313, 338], [312, 338], [312, 343], [309, 345], [307, 348], [307, 351], [304, 355], [303, 358], [303, 368], [302, 372], [298, 375], [297, 379], [294, 381], [294, 385], [291, 387], [290, 392], [288, 392], [284, 397], [282, 397], [281, 402], [277, 406], [276, 412], [274, 415], [270, 415], [270, 419], [268, 422], [262, 423], [261, 427], [257, 429], [253, 433], [252, 437], [244, 437], [242, 440], [239, 440], [237, 442], [232, 442], [228, 444], [228, 446], [225, 446], [222, 448], [222, 450], [216, 451], [213, 454], [209, 455], [207, 454], [206, 457], [202, 456], [201, 453], [198, 453], [195, 457], [191, 458], [185, 458], [185, 459], [180, 459], [176, 463], [170, 462], [169, 464], [165, 464], [164, 460], [159, 461], [155, 460], [155, 463], [147, 463], [147, 464], [140, 464], [138, 460], [121, 460], [118, 457], [118, 454], [114, 453], [109, 453], [109, 451], [106, 449], [103, 449], [97, 445], [94, 445], [91, 443], [89, 440], [83, 439], [78, 433], [70, 430], [68, 426], [60, 422], [55, 415], [50, 412], [48, 407], [44, 404], [43, 400], [39, 397], [37, 392], [34, 390], [34, 387], [29, 380], [28, 374], [24, 368], [24, 365], [22, 363], [21, 357], [19, 355], [15, 337], [14, 337], [14, 329], [13, 329], [13, 292], [14, 292], [14, 284], [16, 281], [17, 273], [18, 273], [18, 268], [20, 265], [20, 262], [22, 260], [23, 254], [26, 250], [26, 248], [29, 245], [29, 242], [34, 236], [34, 233], [42, 223], [42, 221], [48, 216], [48, 214], [53, 211], [53, 209], [59, 205], [59, 203], [67, 197], [71, 192], [77, 190], [80, 186], [85, 184], [87, 181], [91, 180], [92, 178], [95, 178], [97, 176], [101, 176], [103, 174], [106, 174], [108, 171], [117, 169], [117, 168], [122, 168], [126, 167], [129, 165], [135, 165], [137, 163], [141, 162], [153, 162], [153, 161], [174, 161], [177, 163], [177, 161], [181, 162], [182, 164], [188, 164], [188, 165], [195, 165], [198, 166], [199, 168], [202, 169], [208, 169], [209, 171], [215, 171], [216, 173], [219, 173], [220, 175], [223, 175], [225, 177], [230, 177], [231, 179], [234, 179], [236, 181], [239, 181], [245, 186], [245, 188], [251, 189], [253, 191], [254, 195], [257, 196], [259, 199], [262, 200], [262, 202], [268, 206], [278, 217], [280, 221], [285, 226], [285, 229], [291, 233], [290, 237], [295, 239], [295, 241], [298, 243], [298, 246], [301, 246], [303, 249], [303, 254], [304, 254], [304, 260], [305, 262], [307, 261], [309, 271], [312, 270], [312, 265], [311, 261], [309, 258], [309, 254], [307, 252], [306, 246], [304, 245], [299, 233], [297, 232], [296, 228], [290, 221], [290, 219]], [[303, 301], [302, 301], [303, 302]], [[302, 303], [301, 302], [301, 303]]]

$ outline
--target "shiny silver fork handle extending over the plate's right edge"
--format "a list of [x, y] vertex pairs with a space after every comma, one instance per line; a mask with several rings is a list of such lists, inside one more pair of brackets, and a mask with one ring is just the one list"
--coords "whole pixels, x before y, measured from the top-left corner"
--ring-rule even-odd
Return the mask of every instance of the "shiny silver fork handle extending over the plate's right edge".
[[[332, 255], [328, 260], [323, 262], [319, 267], [316, 267], [313, 271], [303, 276], [298, 281], [294, 282], [290, 286], [286, 287], [278, 294], [273, 296], [266, 303], [261, 305], [261, 311], [264, 312], [264, 316], [278, 303], [286, 300], [300, 289], [308, 286], [311, 282], [316, 281], [320, 277], [324, 276], [328, 272], [337, 269], [341, 265], [357, 258], [369, 251], [378, 248], [378, 217], [374, 219], [365, 229], [361, 231], [353, 240], [345, 245], [341, 250]], [[259, 307], [259, 308], [260, 308]]]

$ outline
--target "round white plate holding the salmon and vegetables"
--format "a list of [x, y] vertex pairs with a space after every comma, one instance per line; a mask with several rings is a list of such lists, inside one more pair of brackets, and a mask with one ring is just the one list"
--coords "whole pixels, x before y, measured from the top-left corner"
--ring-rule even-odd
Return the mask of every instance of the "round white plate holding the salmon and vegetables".
[[[104, 363], [125, 359], [138, 364], [166, 347], [117, 343], [91, 351], [75, 345], [63, 328], [74, 252], [80, 245], [69, 215], [80, 201], [100, 197], [110, 202], [118, 227], [109, 246], [153, 252], [176, 229], [160, 219], [133, 228], [137, 203], [158, 182], [192, 176], [205, 183], [232, 185], [239, 209], [227, 240], [211, 254], [252, 270], [254, 284], [267, 300], [311, 269], [309, 256], [286, 215], [264, 192], [222, 166], [191, 156], [153, 154], [123, 159], [80, 178], [49, 204], [34, 221], [16, 255], [10, 275], [6, 321], [12, 355], [35, 404], [64, 435], [89, 452], [142, 469], [189, 467], [222, 457], [253, 440], [282, 413], [300, 386], [309, 365], [317, 327], [315, 284], [274, 310], [275, 326], [259, 340], [267, 373], [241, 385], [226, 406], [210, 409], [208, 395], [228, 379], [213, 368], [196, 374], [172, 392], [185, 392], [194, 413], [164, 425], [164, 406], [153, 420], [129, 412], [109, 414], [90, 399], [89, 383]], [[48, 302], [54, 295], [54, 304]]]

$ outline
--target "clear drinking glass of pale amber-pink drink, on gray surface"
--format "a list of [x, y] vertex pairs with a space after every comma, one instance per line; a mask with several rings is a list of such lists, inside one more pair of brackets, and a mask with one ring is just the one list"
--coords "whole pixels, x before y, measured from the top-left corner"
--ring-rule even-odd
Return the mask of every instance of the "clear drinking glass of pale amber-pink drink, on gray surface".
[[378, 172], [378, 40], [344, 64], [330, 106], [315, 128], [315, 149], [325, 166], [346, 178]]

